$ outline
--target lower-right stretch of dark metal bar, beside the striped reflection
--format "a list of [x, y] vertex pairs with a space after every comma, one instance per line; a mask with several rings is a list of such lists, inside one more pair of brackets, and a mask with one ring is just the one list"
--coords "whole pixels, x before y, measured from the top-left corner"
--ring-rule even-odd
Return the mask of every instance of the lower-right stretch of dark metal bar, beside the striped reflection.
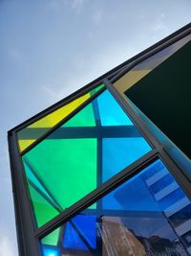
[[180, 188], [184, 191], [186, 196], [191, 200], [190, 179], [183, 172], [180, 171], [180, 168], [165, 150], [160, 151], [159, 159], [166, 166], [169, 173], [171, 173], [171, 175], [173, 175], [177, 182], [180, 184]]

